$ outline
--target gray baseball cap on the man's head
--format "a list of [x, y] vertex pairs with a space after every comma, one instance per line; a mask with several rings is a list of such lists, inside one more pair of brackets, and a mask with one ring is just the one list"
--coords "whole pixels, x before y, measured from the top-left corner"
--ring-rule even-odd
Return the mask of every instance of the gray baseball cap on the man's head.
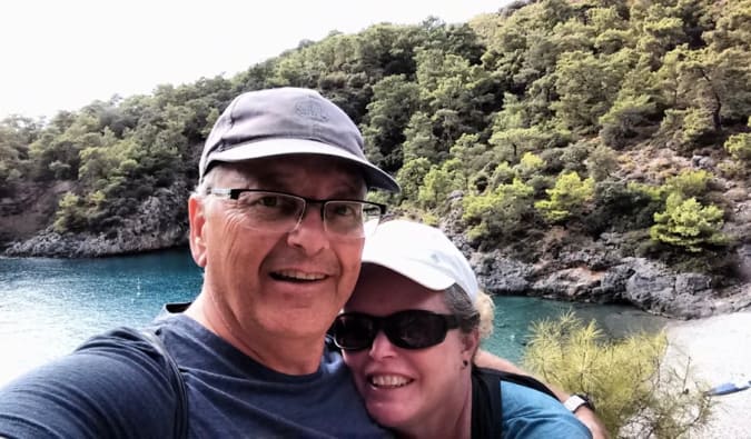
[[368, 188], [397, 192], [396, 181], [365, 158], [363, 147], [352, 119], [315, 90], [249, 91], [235, 98], [214, 124], [198, 164], [199, 181], [216, 162], [319, 154], [356, 164]]

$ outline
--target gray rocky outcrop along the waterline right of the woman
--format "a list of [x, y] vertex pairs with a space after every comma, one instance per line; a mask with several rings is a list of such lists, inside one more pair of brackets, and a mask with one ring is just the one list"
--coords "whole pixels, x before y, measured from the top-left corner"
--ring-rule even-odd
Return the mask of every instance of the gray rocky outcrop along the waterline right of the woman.
[[562, 259], [550, 270], [544, 265], [508, 259], [498, 250], [471, 258], [480, 283], [493, 295], [630, 303], [644, 311], [681, 318], [708, 317], [751, 306], [751, 285], [715, 289], [712, 279], [693, 272], [672, 272], [664, 265], [644, 258], [623, 258], [612, 266], [583, 266]]

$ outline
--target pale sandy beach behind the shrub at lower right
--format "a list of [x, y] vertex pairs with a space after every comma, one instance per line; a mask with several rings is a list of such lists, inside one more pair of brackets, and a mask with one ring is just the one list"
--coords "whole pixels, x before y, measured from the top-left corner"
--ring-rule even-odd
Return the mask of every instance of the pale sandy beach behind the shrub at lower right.
[[[710, 387], [751, 380], [751, 310], [666, 327], [668, 360], [690, 357], [698, 379]], [[751, 389], [715, 396], [710, 428], [701, 438], [751, 438]]]

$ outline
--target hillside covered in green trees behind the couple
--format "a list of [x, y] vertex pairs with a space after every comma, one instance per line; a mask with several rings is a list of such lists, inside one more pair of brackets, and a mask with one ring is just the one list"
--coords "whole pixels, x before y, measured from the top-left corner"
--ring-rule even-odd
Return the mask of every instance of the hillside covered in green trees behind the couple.
[[[10, 117], [0, 246], [81, 256], [182, 242], [214, 121], [237, 93], [279, 86], [338, 103], [399, 181], [392, 210], [472, 249], [535, 261], [596, 241], [720, 283], [744, 276], [750, 0], [518, 1], [462, 24], [332, 32], [233, 78], [49, 120]], [[70, 249], [82, 240], [96, 245]]]

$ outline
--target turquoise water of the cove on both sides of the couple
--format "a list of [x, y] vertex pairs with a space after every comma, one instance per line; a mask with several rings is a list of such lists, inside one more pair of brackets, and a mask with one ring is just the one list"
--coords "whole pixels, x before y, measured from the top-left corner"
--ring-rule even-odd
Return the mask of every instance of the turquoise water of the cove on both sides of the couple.
[[[0, 259], [0, 382], [70, 352], [97, 332], [144, 326], [162, 303], [191, 300], [200, 283], [201, 271], [187, 250], [105, 259]], [[525, 297], [494, 300], [495, 331], [484, 346], [514, 361], [532, 321], [572, 308]], [[574, 309], [614, 336], [662, 323], [626, 307]]]

